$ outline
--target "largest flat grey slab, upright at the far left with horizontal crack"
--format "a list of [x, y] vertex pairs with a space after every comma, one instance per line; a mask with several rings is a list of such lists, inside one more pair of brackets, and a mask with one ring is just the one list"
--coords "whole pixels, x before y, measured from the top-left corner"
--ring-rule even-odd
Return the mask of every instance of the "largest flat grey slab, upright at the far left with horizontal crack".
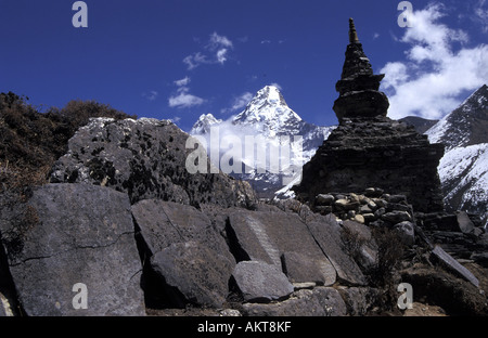
[[[89, 184], [48, 184], [18, 208], [28, 219], [2, 219], [0, 230], [27, 315], [145, 313], [127, 194]], [[74, 302], [84, 295], [87, 309], [76, 310]]]

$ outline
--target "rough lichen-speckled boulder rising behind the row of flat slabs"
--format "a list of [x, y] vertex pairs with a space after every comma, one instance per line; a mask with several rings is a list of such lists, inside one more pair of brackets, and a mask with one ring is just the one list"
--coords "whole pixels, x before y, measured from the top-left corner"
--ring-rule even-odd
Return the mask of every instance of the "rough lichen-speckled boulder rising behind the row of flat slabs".
[[132, 204], [159, 198], [193, 206], [251, 207], [256, 197], [249, 184], [221, 172], [187, 170], [187, 158], [194, 152], [187, 150], [189, 138], [165, 120], [91, 119], [69, 140], [67, 154], [52, 169], [51, 182], [106, 185], [128, 193]]

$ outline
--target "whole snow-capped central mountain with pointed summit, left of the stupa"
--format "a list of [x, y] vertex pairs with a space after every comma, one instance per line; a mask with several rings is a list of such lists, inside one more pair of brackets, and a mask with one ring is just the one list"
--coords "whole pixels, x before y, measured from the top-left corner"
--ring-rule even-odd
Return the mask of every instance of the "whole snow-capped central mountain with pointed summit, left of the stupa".
[[[267, 158], [262, 161], [255, 153], [249, 156], [242, 150], [242, 173], [231, 173], [233, 177], [248, 181], [261, 197], [274, 197], [274, 193], [291, 181], [299, 181], [301, 166], [316, 153], [319, 145], [329, 136], [335, 127], [319, 127], [308, 123], [288, 107], [277, 87], [266, 86], [246, 105], [245, 109], [227, 121], [216, 119], [211, 114], [202, 115], [193, 126], [190, 134], [202, 135], [210, 144], [210, 128], [219, 128], [219, 136], [237, 136], [242, 145], [246, 136], [261, 138], [257, 148], [267, 148]], [[287, 143], [287, 138], [290, 143]], [[301, 140], [301, 141], [300, 141]], [[270, 148], [280, 150], [280, 170], [271, 170]], [[290, 160], [283, 161], [281, 151], [290, 148]], [[210, 150], [207, 150], [210, 152]], [[220, 150], [226, 153], [226, 150]], [[287, 156], [287, 154], [285, 154]], [[283, 165], [284, 162], [284, 165]]]

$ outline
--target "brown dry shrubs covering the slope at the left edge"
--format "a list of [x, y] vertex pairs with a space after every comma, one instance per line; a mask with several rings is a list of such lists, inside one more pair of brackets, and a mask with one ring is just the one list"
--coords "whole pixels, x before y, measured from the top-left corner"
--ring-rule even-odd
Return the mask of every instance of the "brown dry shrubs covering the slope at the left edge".
[[[137, 118], [106, 104], [79, 100], [40, 113], [27, 100], [12, 92], [0, 93], [0, 214], [25, 203], [33, 187], [48, 183], [68, 140], [91, 117]], [[20, 219], [30, 224], [31, 216]]]

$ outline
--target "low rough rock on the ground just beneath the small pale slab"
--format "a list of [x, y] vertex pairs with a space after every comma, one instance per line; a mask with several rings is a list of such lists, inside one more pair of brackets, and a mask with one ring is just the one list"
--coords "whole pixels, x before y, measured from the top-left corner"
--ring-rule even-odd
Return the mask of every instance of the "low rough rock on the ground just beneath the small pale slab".
[[331, 287], [301, 289], [284, 301], [246, 303], [243, 309], [249, 316], [345, 316], [347, 313], [341, 295]]

